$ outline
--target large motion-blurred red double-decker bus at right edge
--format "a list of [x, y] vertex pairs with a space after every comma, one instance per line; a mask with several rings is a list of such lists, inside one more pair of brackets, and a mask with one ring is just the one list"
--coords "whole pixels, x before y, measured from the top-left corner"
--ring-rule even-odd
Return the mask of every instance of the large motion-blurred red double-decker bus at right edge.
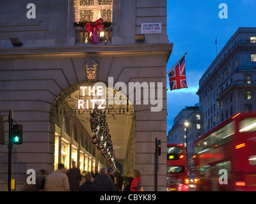
[[223, 121], [197, 138], [194, 150], [198, 191], [256, 191], [255, 112]]

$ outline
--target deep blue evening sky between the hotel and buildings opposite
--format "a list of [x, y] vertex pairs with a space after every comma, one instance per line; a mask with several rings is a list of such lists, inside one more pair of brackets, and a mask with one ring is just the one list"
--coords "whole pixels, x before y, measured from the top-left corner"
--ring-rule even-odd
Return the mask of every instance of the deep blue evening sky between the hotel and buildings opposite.
[[[228, 18], [219, 18], [219, 5], [228, 6]], [[167, 34], [173, 51], [168, 71], [185, 54], [188, 89], [170, 91], [167, 77], [167, 131], [185, 106], [198, 103], [198, 82], [239, 27], [256, 27], [256, 0], [167, 0]]]

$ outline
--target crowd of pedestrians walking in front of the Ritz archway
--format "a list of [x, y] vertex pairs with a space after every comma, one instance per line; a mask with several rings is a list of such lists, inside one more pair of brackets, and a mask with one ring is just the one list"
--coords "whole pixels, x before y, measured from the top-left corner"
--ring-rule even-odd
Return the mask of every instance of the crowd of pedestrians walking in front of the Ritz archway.
[[127, 172], [123, 177], [118, 168], [112, 172], [103, 167], [99, 173], [97, 170], [95, 173], [83, 171], [81, 175], [75, 161], [72, 161], [72, 168], [68, 171], [61, 163], [58, 170], [49, 175], [45, 170], [40, 170], [36, 183], [35, 186], [27, 186], [24, 191], [143, 191], [139, 170]]

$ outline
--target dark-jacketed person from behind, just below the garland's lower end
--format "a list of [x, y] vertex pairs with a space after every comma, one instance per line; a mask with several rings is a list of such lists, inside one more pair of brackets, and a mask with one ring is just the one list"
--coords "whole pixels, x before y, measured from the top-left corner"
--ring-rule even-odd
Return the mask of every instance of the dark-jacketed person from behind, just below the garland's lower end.
[[113, 180], [109, 177], [106, 167], [101, 168], [99, 175], [95, 177], [94, 183], [98, 191], [115, 191], [115, 185]]

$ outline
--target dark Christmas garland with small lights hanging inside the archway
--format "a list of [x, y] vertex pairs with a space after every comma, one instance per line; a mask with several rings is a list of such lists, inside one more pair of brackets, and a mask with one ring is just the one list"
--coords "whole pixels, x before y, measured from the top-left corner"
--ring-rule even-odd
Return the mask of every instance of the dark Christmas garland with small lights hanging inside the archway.
[[106, 122], [106, 114], [101, 110], [94, 109], [90, 113], [90, 125], [92, 129], [91, 142], [97, 145], [102, 156], [108, 161], [111, 168], [116, 168], [116, 158], [109, 134], [108, 122]]

